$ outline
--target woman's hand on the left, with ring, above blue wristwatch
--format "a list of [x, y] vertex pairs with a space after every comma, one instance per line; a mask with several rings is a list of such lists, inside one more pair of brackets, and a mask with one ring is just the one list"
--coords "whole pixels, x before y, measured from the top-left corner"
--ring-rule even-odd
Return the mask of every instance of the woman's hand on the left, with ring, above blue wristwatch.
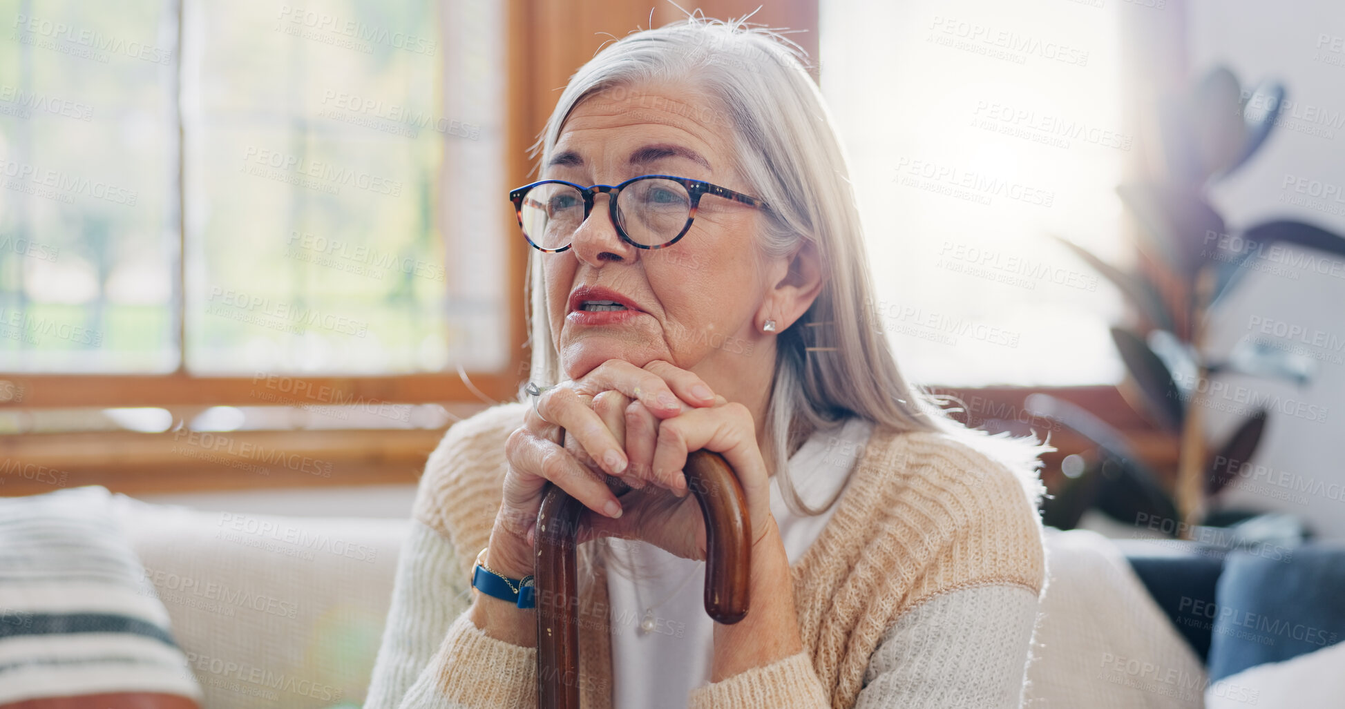
[[[714, 397], [693, 394], [697, 386], [709, 386], [686, 370], [672, 371], [667, 379], [631, 362], [609, 359], [584, 377], [562, 382], [538, 397], [530, 406], [523, 426], [510, 435], [504, 445], [508, 471], [504, 475], [503, 499], [491, 530], [487, 566], [506, 576], [521, 579], [533, 572], [531, 531], [542, 506], [546, 483], [555, 483], [596, 514], [616, 518], [621, 503], [608, 490], [588, 463], [632, 487], [658, 480], [638, 478], [631, 470], [621, 441], [592, 408], [593, 397], [603, 391], [620, 391], [640, 401], [659, 420], [678, 416], [687, 406], [713, 406]], [[685, 402], [685, 404], [683, 404]], [[564, 435], [577, 439], [578, 448], [592, 455], [581, 461], [564, 447]]]

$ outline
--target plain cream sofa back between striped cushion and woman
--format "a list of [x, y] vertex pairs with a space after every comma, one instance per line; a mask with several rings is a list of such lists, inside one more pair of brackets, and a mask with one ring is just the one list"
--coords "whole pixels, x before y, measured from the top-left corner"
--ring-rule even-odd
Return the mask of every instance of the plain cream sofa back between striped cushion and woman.
[[360, 704], [406, 519], [200, 511], [114, 495], [207, 709]]

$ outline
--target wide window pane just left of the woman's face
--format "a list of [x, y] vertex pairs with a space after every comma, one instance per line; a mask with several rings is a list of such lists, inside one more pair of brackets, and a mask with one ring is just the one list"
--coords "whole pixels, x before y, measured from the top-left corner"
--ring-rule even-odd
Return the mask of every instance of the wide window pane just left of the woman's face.
[[188, 369], [502, 366], [502, 11], [312, 8], [187, 3]]

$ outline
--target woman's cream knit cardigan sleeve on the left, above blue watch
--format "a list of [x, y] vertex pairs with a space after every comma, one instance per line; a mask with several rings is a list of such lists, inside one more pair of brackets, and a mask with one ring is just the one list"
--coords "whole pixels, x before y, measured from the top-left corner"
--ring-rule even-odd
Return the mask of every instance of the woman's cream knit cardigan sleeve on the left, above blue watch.
[[364, 709], [537, 705], [537, 650], [467, 616], [468, 573], [499, 509], [503, 443], [519, 413], [510, 404], [455, 424], [425, 464]]

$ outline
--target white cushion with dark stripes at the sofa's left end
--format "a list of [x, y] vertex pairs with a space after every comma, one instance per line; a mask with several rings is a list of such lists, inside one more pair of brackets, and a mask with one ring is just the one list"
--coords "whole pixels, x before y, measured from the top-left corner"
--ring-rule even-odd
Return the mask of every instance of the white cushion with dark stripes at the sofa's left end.
[[200, 701], [108, 500], [100, 486], [0, 499], [0, 708]]

